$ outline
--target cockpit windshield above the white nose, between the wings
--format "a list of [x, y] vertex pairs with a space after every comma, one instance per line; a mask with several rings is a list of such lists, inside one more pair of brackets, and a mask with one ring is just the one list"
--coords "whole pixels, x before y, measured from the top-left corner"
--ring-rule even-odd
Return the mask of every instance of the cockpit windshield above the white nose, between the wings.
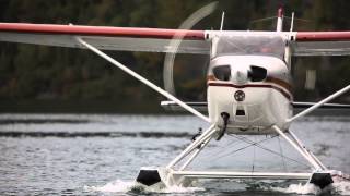
[[283, 59], [285, 42], [281, 36], [223, 35], [213, 41], [212, 57], [228, 54], [261, 54]]

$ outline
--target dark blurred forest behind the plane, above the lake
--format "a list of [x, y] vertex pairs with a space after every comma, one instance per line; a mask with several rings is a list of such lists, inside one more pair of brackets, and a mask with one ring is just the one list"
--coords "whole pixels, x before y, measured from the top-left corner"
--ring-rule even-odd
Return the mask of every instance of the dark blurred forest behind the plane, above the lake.
[[[177, 28], [210, 0], [0, 0], [0, 22]], [[226, 0], [195, 29], [275, 30], [282, 4], [295, 12], [294, 30], [349, 30], [347, 0]], [[284, 20], [284, 30], [290, 27]], [[163, 53], [110, 52], [163, 86]], [[176, 56], [175, 83], [183, 100], [206, 99], [206, 63], [199, 56]], [[316, 101], [346, 86], [349, 57], [294, 58], [294, 99]], [[316, 81], [305, 83], [306, 75]], [[315, 82], [315, 87], [313, 85]], [[91, 51], [0, 42], [0, 112], [160, 112], [162, 96]], [[348, 96], [337, 101], [349, 102]]]

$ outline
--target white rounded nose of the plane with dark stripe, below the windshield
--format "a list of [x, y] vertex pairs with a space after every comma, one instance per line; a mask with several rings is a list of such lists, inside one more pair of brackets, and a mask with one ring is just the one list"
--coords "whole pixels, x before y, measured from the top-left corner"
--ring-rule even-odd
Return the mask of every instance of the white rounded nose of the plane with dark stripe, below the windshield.
[[226, 133], [270, 134], [271, 125], [283, 130], [292, 117], [290, 71], [284, 61], [270, 56], [220, 56], [208, 71], [208, 111], [211, 123]]

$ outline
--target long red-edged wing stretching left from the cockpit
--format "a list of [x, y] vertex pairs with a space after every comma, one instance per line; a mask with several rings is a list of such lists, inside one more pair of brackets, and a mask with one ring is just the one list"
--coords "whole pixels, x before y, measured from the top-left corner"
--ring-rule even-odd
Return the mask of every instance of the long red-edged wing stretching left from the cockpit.
[[[102, 50], [208, 54], [205, 30], [0, 23], [0, 41], [83, 48], [80, 37]], [[183, 39], [178, 48], [172, 38]]]

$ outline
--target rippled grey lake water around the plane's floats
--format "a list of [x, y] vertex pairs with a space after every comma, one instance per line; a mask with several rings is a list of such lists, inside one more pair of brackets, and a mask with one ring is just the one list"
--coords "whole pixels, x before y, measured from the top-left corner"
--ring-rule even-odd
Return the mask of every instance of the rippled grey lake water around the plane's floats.
[[[190, 115], [0, 114], [0, 195], [296, 195], [296, 181], [205, 180], [195, 187], [136, 191], [143, 166], [165, 166], [209, 125]], [[308, 117], [292, 131], [330, 169], [350, 173], [350, 118]], [[310, 171], [282, 138], [226, 135], [191, 169]], [[271, 149], [268, 151], [262, 148]], [[238, 150], [237, 150], [238, 149]], [[278, 156], [279, 154], [285, 157]], [[350, 183], [332, 193], [350, 194]]]

